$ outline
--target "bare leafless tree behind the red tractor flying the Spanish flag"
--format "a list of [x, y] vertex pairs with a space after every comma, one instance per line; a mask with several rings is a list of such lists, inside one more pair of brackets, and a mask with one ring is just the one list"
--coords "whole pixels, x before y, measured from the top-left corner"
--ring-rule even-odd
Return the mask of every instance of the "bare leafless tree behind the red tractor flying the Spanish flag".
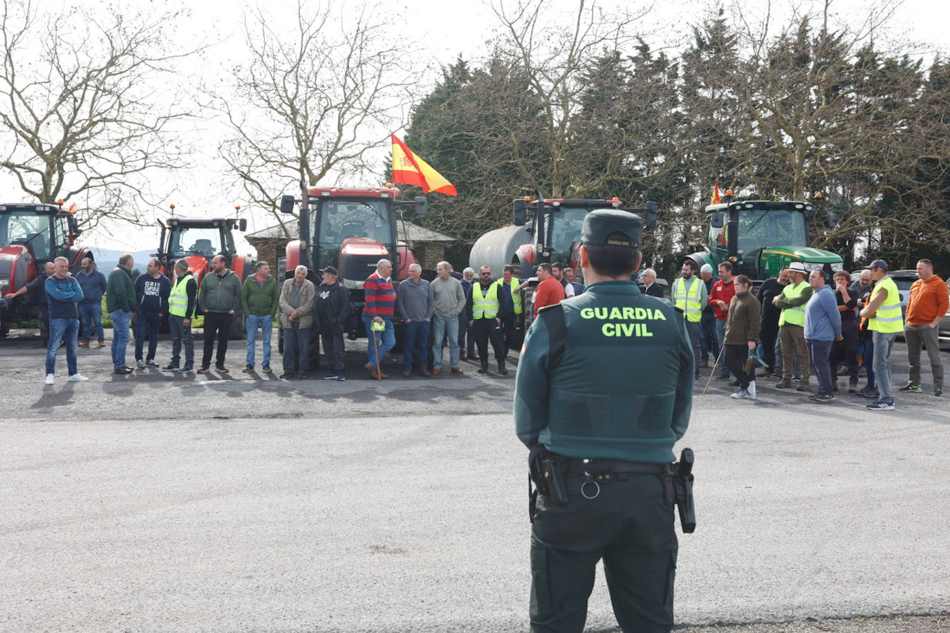
[[245, 20], [252, 61], [239, 68], [234, 132], [220, 155], [252, 208], [279, 214], [281, 193], [327, 178], [378, 172], [369, 154], [389, 142], [414, 84], [407, 40], [388, 12], [299, 0], [293, 28], [257, 12]]

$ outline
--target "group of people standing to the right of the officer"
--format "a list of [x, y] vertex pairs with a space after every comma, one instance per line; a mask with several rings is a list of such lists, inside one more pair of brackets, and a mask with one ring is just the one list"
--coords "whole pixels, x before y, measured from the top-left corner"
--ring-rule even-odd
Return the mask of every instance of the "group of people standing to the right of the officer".
[[[902, 334], [910, 370], [898, 391], [922, 392], [925, 347], [933, 393], [942, 396], [938, 326], [950, 305], [947, 286], [934, 274], [933, 263], [921, 259], [903, 315], [900, 293], [887, 270], [887, 262], [876, 259], [853, 283], [848, 272], [836, 271], [829, 286], [822, 270], [791, 262], [753, 294], [751, 280], [733, 276], [729, 262], [719, 265], [717, 278], [708, 264], [697, 276], [695, 263], [687, 261], [671, 295], [693, 346], [695, 378], [701, 377], [701, 368], [711, 368], [717, 380], [736, 387], [731, 398], [737, 400], [755, 400], [759, 378], [778, 381], [779, 389], [807, 392], [814, 402], [829, 402], [839, 391], [837, 379], [847, 377], [849, 393], [873, 400], [868, 409], [889, 410], [894, 408], [890, 356]], [[756, 372], [757, 364], [764, 365], [761, 371]]]

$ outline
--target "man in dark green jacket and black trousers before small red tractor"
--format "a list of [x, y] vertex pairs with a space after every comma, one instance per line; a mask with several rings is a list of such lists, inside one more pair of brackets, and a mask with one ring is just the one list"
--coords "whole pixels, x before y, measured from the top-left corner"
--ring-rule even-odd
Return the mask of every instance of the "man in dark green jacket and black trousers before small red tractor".
[[204, 353], [201, 357], [199, 374], [207, 373], [211, 368], [211, 353], [215, 351], [215, 336], [218, 336], [218, 355], [215, 368], [226, 374], [224, 355], [228, 351], [228, 334], [231, 322], [240, 309], [240, 279], [233, 270], [228, 269], [224, 255], [215, 255], [211, 260], [212, 271], [201, 279], [198, 289], [198, 305], [204, 315]]

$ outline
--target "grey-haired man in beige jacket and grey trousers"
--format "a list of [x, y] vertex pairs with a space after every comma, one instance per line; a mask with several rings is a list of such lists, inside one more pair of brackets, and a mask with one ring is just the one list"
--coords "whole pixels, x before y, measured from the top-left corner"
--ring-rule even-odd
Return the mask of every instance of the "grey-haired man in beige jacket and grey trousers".
[[280, 378], [307, 378], [310, 370], [310, 330], [314, 325], [314, 282], [307, 267], [298, 266], [280, 289], [280, 326], [284, 330], [284, 373]]

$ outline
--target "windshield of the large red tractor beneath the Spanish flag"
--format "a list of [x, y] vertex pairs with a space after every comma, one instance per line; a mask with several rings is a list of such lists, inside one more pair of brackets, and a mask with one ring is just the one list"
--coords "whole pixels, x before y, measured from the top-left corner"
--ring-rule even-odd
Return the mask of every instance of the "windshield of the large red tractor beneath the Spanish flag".
[[368, 237], [382, 244], [390, 253], [395, 248], [395, 227], [390, 209], [379, 198], [337, 198], [321, 200], [314, 216], [314, 242], [317, 243], [317, 266], [337, 266], [340, 245], [348, 237]]

